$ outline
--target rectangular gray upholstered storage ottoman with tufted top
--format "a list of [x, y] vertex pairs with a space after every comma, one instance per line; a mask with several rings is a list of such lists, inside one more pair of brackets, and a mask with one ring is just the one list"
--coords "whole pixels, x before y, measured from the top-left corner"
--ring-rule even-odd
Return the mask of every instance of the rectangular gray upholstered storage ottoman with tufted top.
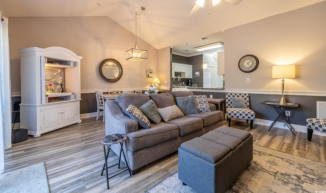
[[221, 126], [181, 144], [179, 179], [197, 192], [225, 192], [253, 159], [253, 136]]

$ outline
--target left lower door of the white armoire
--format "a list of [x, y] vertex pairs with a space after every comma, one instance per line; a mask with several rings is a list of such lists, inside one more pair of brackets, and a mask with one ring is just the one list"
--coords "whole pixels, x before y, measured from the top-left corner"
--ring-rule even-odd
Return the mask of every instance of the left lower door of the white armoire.
[[46, 128], [59, 126], [61, 124], [61, 104], [47, 105], [41, 108], [42, 111], [42, 127]]

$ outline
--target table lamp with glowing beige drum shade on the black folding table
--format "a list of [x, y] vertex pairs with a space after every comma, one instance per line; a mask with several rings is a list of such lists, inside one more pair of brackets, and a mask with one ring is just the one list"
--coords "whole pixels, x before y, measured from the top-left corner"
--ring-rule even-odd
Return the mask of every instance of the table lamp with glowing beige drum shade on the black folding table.
[[279, 104], [286, 105], [284, 98], [284, 78], [295, 78], [295, 65], [273, 66], [271, 78], [282, 78], [282, 96]]

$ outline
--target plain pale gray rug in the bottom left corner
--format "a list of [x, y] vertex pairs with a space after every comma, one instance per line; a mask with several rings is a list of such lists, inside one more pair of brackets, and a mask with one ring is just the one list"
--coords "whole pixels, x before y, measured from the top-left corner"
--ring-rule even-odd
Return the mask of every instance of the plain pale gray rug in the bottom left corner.
[[44, 163], [0, 175], [0, 192], [50, 192]]

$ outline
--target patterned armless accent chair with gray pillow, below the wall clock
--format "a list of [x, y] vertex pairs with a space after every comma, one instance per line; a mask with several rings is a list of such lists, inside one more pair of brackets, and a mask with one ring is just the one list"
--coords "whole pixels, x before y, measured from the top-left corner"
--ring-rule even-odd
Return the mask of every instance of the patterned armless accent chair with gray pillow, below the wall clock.
[[255, 111], [250, 109], [249, 93], [226, 93], [226, 114], [231, 125], [231, 118], [250, 120], [250, 128], [253, 128]]

